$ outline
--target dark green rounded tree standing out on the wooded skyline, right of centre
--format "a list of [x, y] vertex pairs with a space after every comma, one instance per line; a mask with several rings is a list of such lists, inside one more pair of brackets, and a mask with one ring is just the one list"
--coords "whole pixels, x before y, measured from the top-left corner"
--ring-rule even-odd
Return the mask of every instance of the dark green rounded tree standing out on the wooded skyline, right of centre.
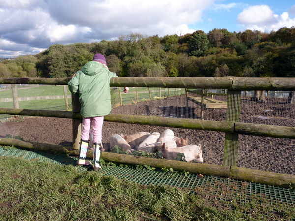
[[209, 40], [207, 36], [195, 34], [191, 40], [190, 54], [191, 56], [202, 56], [208, 48]]

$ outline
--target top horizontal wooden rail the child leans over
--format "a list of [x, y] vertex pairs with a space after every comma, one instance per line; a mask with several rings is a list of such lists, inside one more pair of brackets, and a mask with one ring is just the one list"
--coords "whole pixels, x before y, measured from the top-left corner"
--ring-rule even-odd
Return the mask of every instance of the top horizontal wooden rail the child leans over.
[[[71, 78], [0, 78], [0, 84], [67, 85]], [[244, 77], [124, 77], [112, 78], [115, 87], [168, 87], [187, 89], [295, 91], [295, 78]]]

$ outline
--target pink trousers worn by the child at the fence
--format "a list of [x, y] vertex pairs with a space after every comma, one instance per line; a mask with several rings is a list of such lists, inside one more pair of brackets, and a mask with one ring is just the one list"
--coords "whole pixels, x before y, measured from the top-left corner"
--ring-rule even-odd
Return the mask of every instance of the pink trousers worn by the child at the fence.
[[86, 118], [83, 117], [81, 139], [89, 140], [91, 123], [93, 132], [93, 143], [101, 143], [103, 116]]

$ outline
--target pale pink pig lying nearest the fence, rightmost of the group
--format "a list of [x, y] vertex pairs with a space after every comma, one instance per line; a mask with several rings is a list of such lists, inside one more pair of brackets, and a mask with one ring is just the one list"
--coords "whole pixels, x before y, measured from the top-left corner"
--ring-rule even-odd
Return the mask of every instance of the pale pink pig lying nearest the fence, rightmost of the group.
[[163, 143], [162, 156], [167, 160], [173, 160], [177, 158], [177, 153], [183, 153], [187, 162], [196, 161], [203, 163], [201, 145], [188, 145], [178, 148], [171, 148], [166, 143]]

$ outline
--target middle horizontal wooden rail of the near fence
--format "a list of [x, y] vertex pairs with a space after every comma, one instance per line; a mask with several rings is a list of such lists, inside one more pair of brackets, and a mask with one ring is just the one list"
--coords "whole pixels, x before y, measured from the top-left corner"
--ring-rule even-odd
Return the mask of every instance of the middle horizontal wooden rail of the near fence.
[[[72, 111], [46, 111], [30, 109], [0, 108], [0, 114], [60, 117], [70, 119], [82, 119], [80, 113]], [[126, 114], [110, 113], [104, 117], [105, 121], [152, 125], [161, 127], [184, 128], [207, 131], [220, 131], [235, 134], [245, 134], [272, 138], [295, 139], [295, 127], [273, 126], [264, 124], [239, 123], [233, 121], [196, 120], [170, 117], [150, 117]]]

